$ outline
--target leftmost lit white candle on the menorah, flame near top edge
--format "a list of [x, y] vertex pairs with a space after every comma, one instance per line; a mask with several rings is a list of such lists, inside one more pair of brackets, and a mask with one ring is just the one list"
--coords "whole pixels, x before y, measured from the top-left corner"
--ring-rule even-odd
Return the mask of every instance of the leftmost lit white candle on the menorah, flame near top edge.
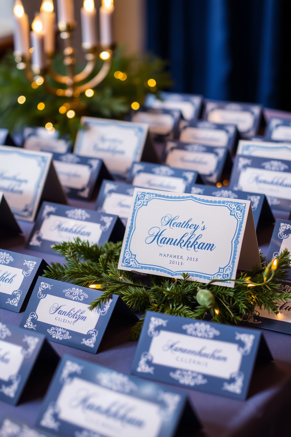
[[14, 52], [18, 56], [25, 56], [26, 59], [30, 59], [28, 15], [24, 13], [24, 7], [21, 0], [16, 0], [13, 11]]

